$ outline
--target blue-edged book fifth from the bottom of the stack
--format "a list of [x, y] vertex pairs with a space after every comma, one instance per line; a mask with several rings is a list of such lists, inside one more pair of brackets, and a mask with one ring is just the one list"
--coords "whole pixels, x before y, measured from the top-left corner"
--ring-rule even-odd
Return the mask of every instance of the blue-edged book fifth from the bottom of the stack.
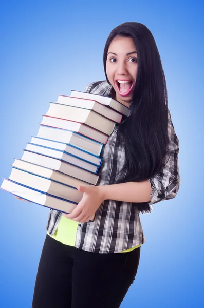
[[98, 168], [99, 168], [98, 166], [87, 163], [83, 161], [82, 159], [73, 157], [64, 151], [50, 149], [50, 148], [47, 148], [41, 145], [27, 143], [25, 150], [38, 153], [38, 154], [42, 154], [45, 156], [49, 156], [52, 158], [60, 159], [61, 161], [78, 166], [90, 172], [94, 172], [95, 174], [97, 173]]

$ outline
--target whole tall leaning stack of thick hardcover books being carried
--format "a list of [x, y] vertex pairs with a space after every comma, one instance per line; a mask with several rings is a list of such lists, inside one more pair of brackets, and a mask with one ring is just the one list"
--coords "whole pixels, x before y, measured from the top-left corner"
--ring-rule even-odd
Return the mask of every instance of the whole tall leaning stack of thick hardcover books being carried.
[[[11, 194], [70, 213], [82, 199], [79, 185], [96, 185], [100, 154], [116, 123], [130, 110], [109, 97], [71, 91], [58, 95], [36, 137], [15, 159], [1, 188]], [[94, 220], [94, 217], [91, 218]]]

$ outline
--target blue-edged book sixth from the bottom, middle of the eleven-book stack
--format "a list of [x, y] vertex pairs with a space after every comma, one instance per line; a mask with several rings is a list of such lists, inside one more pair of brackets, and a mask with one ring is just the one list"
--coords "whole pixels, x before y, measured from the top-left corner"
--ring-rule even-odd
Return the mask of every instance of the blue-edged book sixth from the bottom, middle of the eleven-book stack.
[[56, 141], [51, 141], [47, 140], [44, 138], [39, 138], [39, 137], [32, 137], [31, 141], [29, 142], [31, 144], [35, 145], [42, 145], [44, 147], [50, 148], [50, 149], [57, 149], [61, 150], [65, 153], [68, 153], [69, 155], [73, 155], [77, 158], [80, 158], [88, 163], [94, 164], [96, 166], [100, 166], [102, 162], [102, 158], [91, 155], [85, 151], [82, 151], [76, 147], [73, 147], [71, 145], [68, 145], [66, 143], [62, 142], [56, 142]]

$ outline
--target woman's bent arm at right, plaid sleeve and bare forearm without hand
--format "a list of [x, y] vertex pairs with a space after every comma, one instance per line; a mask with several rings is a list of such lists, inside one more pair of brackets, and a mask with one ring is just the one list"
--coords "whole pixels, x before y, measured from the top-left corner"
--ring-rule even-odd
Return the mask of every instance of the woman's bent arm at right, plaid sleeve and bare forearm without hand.
[[150, 202], [150, 205], [174, 198], [180, 185], [178, 153], [179, 140], [168, 109], [168, 146], [161, 171], [142, 182], [98, 186], [99, 193], [104, 200]]

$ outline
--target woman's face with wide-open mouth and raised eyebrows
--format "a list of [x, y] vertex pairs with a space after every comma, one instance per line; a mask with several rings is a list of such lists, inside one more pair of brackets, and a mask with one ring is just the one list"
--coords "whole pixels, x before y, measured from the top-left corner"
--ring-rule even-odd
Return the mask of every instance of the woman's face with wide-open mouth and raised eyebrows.
[[132, 38], [115, 37], [107, 53], [106, 74], [115, 99], [129, 107], [137, 76], [137, 50]]

